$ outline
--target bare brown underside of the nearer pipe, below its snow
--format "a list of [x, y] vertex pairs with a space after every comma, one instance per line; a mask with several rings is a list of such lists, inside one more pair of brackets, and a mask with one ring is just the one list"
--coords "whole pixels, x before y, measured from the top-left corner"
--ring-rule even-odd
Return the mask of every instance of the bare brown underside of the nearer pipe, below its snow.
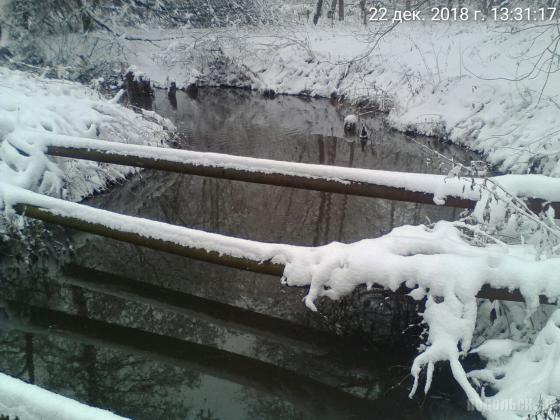
[[[74, 205], [79, 206], [81, 204], [74, 204]], [[49, 223], [55, 223], [72, 229], [77, 229], [83, 232], [89, 232], [96, 235], [105, 236], [107, 238], [117, 239], [119, 241], [128, 242], [135, 245], [145, 246], [147, 248], [168, 252], [170, 254], [194, 258], [196, 260], [207, 261], [214, 264], [224, 265], [227, 267], [252, 271], [255, 273], [271, 274], [273, 276], [281, 276], [284, 273], [284, 265], [279, 263], [273, 263], [271, 261], [257, 261], [257, 260], [250, 259], [249, 257], [239, 257], [239, 256], [229, 255], [224, 251], [217, 252], [213, 250], [208, 250], [206, 248], [195, 248], [192, 246], [181, 245], [163, 239], [143, 236], [133, 231], [126, 231], [124, 229], [112, 228], [109, 226], [105, 226], [101, 223], [91, 222], [85, 219], [79, 219], [77, 217], [66, 216], [63, 214], [59, 214], [58, 212], [50, 209], [27, 205], [24, 203], [16, 204], [14, 208], [19, 214], [23, 214], [25, 216], [32, 217], [34, 219], [43, 220]], [[88, 209], [89, 211], [93, 210], [89, 207]], [[115, 214], [115, 216], [122, 217], [122, 215], [118, 215], [118, 214]], [[143, 222], [147, 223], [150, 221], [143, 219]], [[157, 222], [152, 222], [152, 223], [157, 223]], [[191, 229], [191, 231], [193, 230], [194, 229]], [[207, 235], [206, 237], [207, 241], [211, 243], [213, 238], [212, 234], [203, 231], [197, 231], [197, 232], [200, 234]], [[239, 244], [244, 244], [245, 242], [248, 242], [246, 239], [237, 239], [231, 237], [229, 237], [228, 239], [231, 240], [232, 242], [239, 241]], [[240, 248], [242, 248], [242, 246], [240, 246]], [[406, 288], [401, 287], [397, 292], [406, 293], [408, 291], [409, 290], [407, 290]], [[519, 293], [518, 290], [509, 291], [507, 289], [492, 289], [487, 285], [484, 285], [476, 296], [478, 298], [483, 298], [483, 299], [509, 300], [515, 302], [524, 301], [523, 296], [521, 295], [521, 293]], [[545, 296], [541, 296], [540, 299], [541, 299], [541, 303], [548, 302]]]

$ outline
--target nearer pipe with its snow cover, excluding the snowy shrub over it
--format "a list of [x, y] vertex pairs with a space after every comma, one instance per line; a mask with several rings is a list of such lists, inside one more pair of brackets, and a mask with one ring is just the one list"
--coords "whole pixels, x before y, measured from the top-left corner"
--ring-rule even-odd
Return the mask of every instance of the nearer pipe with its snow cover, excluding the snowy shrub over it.
[[[7, 205], [14, 207], [18, 213], [35, 219], [159, 251], [274, 276], [285, 275], [286, 266], [297, 260], [298, 255], [318, 249], [208, 233], [95, 209], [1, 184], [0, 192]], [[401, 286], [396, 291], [407, 293], [410, 290]], [[482, 285], [477, 297], [524, 300], [519, 291], [496, 289], [488, 285]], [[541, 296], [540, 302], [547, 303], [547, 300]]]

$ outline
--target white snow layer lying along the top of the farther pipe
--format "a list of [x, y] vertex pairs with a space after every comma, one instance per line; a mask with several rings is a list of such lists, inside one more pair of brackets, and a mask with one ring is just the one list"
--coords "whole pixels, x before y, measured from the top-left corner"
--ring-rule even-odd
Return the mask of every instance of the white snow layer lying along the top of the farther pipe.
[[[404, 188], [434, 196], [434, 203], [445, 204], [448, 196], [468, 200], [480, 200], [482, 178], [466, 178], [422, 173], [381, 171], [373, 169], [346, 168], [341, 166], [305, 164], [244, 156], [226, 155], [190, 150], [154, 148], [149, 146], [112, 143], [73, 136], [20, 132], [20, 139], [33, 144], [42, 152], [47, 146], [93, 149], [122, 156], [153, 158], [170, 162], [185, 163], [201, 167], [220, 167], [247, 172], [293, 175], [304, 178], [321, 178], [342, 183], [361, 182], [372, 185]], [[560, 201], [560, 179], [542, 175], [502, 175], [488, 179], [502, 186], [509, 193], [522, 198], [539, 198], [545, 201]]]

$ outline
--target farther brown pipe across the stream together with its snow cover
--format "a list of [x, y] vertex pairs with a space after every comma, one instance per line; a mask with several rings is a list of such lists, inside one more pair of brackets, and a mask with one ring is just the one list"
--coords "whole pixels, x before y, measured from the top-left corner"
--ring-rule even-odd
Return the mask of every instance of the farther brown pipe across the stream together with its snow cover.
[[[474, 208], [484, 183], [482, 178], [257, 159], [55, 134], [41, 134], [39, 141], [51, 156], [457, 208]], [[548, 202], [560, 214], [557, 179], [540, 175], [505, 175], [492, 179], [514, 195], [529, 197], [527, 205], [531, 210], [540, 212]]]

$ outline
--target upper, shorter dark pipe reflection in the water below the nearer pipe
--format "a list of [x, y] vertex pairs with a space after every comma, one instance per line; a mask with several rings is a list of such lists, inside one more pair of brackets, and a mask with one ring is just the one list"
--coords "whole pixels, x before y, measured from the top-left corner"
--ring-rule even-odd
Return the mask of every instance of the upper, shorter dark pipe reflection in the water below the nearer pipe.
[[63, 272], [62, 281], [99, 293], [194, 316], [221, 327], [234, 328], [299, 348], [317, 351], [317, 345], [327, 344], [331, 340], [327, 333], [284, 319], [78, 265], [68, 266]]

